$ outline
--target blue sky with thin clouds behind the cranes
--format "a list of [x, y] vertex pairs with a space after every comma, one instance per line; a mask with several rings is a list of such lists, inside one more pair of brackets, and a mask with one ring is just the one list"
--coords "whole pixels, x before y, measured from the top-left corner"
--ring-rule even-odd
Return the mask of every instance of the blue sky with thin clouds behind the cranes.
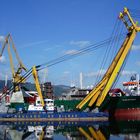
[[[0, 0], [0, 41], [10, 33], [20, 59], [30, 69], [111, 36], [123, 7], [140, 10], [139, 0]], [[133, 73], [140, 74], [140, 35], [125, 65], [118, 86]], [[0, 47], [2, 45], [0, 44]], [[53, 84], [94, 85], [104, 48], [40, 72], [40, 80]], [[12, 52], [14, 57], [14, 52]], [[111, 56], [110, 56], [111, 57]], [[15, 58], [13, 58], [15, 59]], [[16, 60], [14, 60], [16, 61]], [[0, 59], [0, 80], [11, 77], [7, 50]], [[16, 67], [16, 66], [15, 66]], [[105, 69], [101, 73], [104, 74]]]

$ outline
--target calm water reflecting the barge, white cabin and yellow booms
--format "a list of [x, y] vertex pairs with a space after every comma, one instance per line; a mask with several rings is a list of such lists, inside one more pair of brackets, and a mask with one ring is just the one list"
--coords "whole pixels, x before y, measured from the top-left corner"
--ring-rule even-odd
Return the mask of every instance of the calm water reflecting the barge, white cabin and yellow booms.
[[4, 140], [139, 140], [140, 121], [1, 122]]

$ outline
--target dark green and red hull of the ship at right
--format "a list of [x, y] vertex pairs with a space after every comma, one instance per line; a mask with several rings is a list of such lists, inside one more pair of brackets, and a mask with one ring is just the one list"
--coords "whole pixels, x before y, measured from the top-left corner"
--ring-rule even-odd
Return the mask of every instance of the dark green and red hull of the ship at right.
[[140, 96], [108, 97], [106, 107], [115, 120], [140, 120]]

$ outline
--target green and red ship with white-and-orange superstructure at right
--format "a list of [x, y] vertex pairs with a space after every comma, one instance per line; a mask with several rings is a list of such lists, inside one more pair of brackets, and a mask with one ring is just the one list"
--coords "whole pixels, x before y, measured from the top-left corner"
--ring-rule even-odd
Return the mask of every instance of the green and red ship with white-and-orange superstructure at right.
[[102, 111], [109, 111], [117, 120], [140, 120], [140, 81], [133, 77], [123, 82], [123, 90], [110, 90], [100, 107]]

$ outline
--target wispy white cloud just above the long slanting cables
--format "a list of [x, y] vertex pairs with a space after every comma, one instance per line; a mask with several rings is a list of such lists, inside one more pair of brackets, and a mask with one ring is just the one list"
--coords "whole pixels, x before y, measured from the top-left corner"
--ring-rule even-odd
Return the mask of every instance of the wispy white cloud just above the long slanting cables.
[[70, 41], [70, 45], [75, 45], [78, 47], [86, 47], [88, 45], [90, 45], [91, 42], [90, 41], [86, 41], [86, 40], [80, 40], [80, 41]]

